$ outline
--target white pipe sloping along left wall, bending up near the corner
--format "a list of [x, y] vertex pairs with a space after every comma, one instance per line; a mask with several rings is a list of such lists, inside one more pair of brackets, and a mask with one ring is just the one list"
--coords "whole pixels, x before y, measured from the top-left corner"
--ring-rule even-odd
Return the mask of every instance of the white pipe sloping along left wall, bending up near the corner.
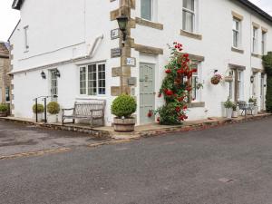
[[104, 38], [103, 34], [100, 35], [100, 36], [97, 36], [95, 38], [89, 52], [86, 53], [83, 56], [72, 58], [72, 59], [69, 59], [69, 60], [63, 60], [63, 61], [60, 61], [60, 62], [57, 62], [57, 63], [48, 63], [48, 64], [44, 64], [44, 65], [41, 65], [41, 66], [29, 68], [29, 69], [26, 69], [26, 70], [19, 70], [19, 71], [7, 73], [7, 74], [13, 75], [15, 73], [25, 73], [25, 72], [29, 72], [29, 71], [42, 70], [42, 69], [46, 69], [46, 68], [53, 67], [53, 66], [60, 66], [60, 65], [63, 65], [63, 64], [67, 64], [67, 63], [76, 63], [76, 62], [79, 62], [79, 61], [92, 59], [92, 57], [94, 56], [94, 51], [95, 51], [95, 48], [97, 47], [97, 44], [99, 42], [101, 42], [103, 38]]

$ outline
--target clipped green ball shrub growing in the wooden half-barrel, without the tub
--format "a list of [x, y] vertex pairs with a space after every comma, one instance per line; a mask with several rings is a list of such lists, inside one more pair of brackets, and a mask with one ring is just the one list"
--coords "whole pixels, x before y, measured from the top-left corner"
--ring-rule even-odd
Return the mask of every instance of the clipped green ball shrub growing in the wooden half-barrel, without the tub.
[[129, 118], [136, 109], [137, 103], [130, 95], [120, 95], [112, 102], [112, 114], [118, 118]]

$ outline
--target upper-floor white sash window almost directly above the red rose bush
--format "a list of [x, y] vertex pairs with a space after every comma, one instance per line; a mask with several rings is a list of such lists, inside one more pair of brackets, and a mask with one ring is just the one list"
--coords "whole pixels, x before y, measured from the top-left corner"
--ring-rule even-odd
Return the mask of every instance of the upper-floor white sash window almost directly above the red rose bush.
[[195, 7], [195, 0], [183, 0], [182, 29], [190, 33], [195, 32]]

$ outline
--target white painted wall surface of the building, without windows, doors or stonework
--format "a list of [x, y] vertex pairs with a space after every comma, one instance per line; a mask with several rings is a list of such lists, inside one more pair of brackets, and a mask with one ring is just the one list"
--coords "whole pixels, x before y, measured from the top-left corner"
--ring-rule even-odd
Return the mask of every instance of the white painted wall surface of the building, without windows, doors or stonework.
[[[252, 21], [268, 28], [267, 50], [272, 50], [272, 26], [260, 16], [251, 14], [243, 6], [236, 5], [230, 0], [199, 0], [199, 34], [203, 40], [195, 40], [180, 35], [182, 27], [182, 4], [180, 0], [156, 1], [156, 22], [164, 25], [162, 31], [142, 25], [131, 30], [131, 37], [136, 44], [143, 44], [164, 49], [159, 56], [146, 56], [132, 49], [132, 57], [136, 57], [137, 66], [131, 68], [131, 75], [139, 78], [139, 64], [141, 62], [156, 64], [156, 92], [159, 92], [160, 83], [164, 77], [164, 65], [168, 62], [170, 52], [167, 44], [179, 41], [184, 44], [185, 51], [205, 57], [201, 63], [204, 90], [201, 91], [201, 101], [206, 102], [205, 108], [189, 110], [189, 120], [203, 119], [213, 116], [222, 116], [221, 103], [228, 97], [228, 83], [218, 86], [211, 85], [209, 79], [214, 69], [226, 74], [228, 63], [244, 65], [244, 100], [251, 96], [250, 75], [251, 67], [262, 68], [261, 60], [251, 57], [251, 30]], [[73, 106], [74, 101], [90, 101], [92, 98], [107, 100], [106, 123], [111, 125], [112, 114], [111, 86], [119, 85], [119, 78], [112, 78], [112, 67], [120, 66], [120, 59], [111, 59], [111, 49], [118, 47], [118, 40], [111, 40], [111, 30], [118, 27], [116, 21], [110, 21], [110, 12], [119, 7], [119, 1], [108, 0], [27, 0], [21, 10], [21, 23], [11, 37], [14, 44], [15, 73], [15, 110], [16, 117], [32, 117], [31, 107], [33, 99], [40, 95], [48, 95], [48, 78], [43, 80], [40, 73], [48, 76], [48, 70], [58, 68], [62, 74], [59, 79], [58, 102], [62, 107]], [[132, 17], [140, 17], [141, 1], [136, 1], [136, 9], [131, 11]], [[244, 54], [231, 52], [232, 44], [232, 15], [235, 11], [244, 16], [242, 23], [242, 39]], [[24, 49], [24, 26], [29, 26], [29, 49]], [[261, 32], [259, 30], [259, 32]], [[82, 62], [72, 62], [57, 67], [32, 70], [35, 67], [50, 63], [71, 60], [87, 53], [98, 35], [103, 34], [103, 40], [92, 59]], [[260, 34], [259, 34], [260, 36]], [[260, 38], [259, 38], [260, 40]], [[260, 42], [259, 42], [260, 46]], [[81, 64], [105, 62], [106, 64], [106, 95], [103, 97], [81, 96], [79, 94], [79, 66]], [[25, 72], [24, 72], [25, 71]], [[136, 87], [136, 96], [139, 96], [139, 86]], [[139, 97], [138, 97], [139, 100]], [[156, 107], [162, 104], [156, 99]], [[139, 110], [139, 109], [138, 109]], [[139, 115], [139, 111], [138, 111]]]

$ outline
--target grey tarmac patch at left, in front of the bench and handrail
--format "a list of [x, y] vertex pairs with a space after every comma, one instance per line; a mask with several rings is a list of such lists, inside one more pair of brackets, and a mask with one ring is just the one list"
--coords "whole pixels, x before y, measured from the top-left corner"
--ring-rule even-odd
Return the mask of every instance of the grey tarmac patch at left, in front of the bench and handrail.
[[53, 131], [34, 125], [0, 121], [0, 157], [31, 151], [73, 148], [95, 141], [97, 140], [84, 133]]

